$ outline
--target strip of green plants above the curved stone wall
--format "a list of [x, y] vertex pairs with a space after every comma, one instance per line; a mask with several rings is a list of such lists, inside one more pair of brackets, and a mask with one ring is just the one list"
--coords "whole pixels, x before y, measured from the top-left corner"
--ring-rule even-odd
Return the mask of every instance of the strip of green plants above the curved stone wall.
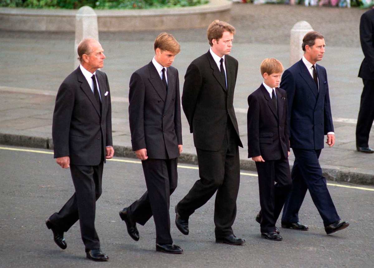
[[183, 7], [206, 4], [208, 0], [0, 0], [3, 7], [64, 8], [79, 9], [91, 6], [94, 9], [146, 9]]

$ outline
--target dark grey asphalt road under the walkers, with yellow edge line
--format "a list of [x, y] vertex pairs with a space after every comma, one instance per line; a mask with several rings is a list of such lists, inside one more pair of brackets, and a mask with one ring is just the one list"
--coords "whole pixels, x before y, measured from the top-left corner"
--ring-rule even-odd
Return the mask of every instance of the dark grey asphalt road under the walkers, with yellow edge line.
[[79, 224], [65, 233], [68, 247], [61, 250], [44, 223], [73, 194], [70, 171], [55, 163], [51, 151], [1, 147], [0, 267], [373, 267], [373, 187], [329, 182], [338, 213], [350, 222], [333, 235], [325, 234], [307, 194], [300, 221], [309, 231], [281, 228], [283, 241], [275, 242], [261, 238], [254, 221], [260, 208], [257, 176], [242, 172], [233, 229], [246, 243], [229, 246], [215, 243], [214, 198], [190, 217], [188, 236], [177, 230], [174, 206], [198, 178], [196, 166], [182, 164], [178, 172], [178, 188], [171, 197], [171, 234], [184, 253], [169, 255], [155, 251], [153, 219], [138, 225], [140, 241], [135, 242], [118, 215], [145, 191], [140, 161], [115, 158], [105, 164], [96, 230], [110, 260], [96, 263], [85, 258]]

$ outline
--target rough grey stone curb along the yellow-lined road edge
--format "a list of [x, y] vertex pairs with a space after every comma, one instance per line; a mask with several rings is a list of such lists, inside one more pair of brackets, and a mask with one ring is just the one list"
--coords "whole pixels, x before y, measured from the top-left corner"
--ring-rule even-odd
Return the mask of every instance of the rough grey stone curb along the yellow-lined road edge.
[[[0, 144], [13, 145], [32, 148], [43, 148], [53, 150], [53, 142], [51, 138], [42, 138], [26, 135], [14, 135], [0, 133]], [[114, 145], [114, 156], [136, 158], [131, 147]], [[182, 153], [178, 159], [179, 163], [197, 164], [197, 155]], [[291, 166], [292, 168], [292, 166]], [[254, 161], [240, 160], [240, 169], [256, 171]], [[326, 179], [329, 181], [347, 182], [350, 184], [374, 185], [374, 176], [368, 173], [355, 172], [352, 169], [341, 169], [339, 167], [324, 167], [322, 171]]]

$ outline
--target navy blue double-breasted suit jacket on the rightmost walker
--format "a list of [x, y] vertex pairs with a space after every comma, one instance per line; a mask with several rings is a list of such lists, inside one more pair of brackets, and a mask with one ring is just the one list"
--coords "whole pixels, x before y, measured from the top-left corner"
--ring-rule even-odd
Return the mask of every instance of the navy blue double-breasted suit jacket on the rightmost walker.
[[288, 120], [292, 148], [324, 148], [324, 135], [334, 131], [326, 69], [316, 64], [317, 86], [302, 60], [282, 76], [281, 88], [288, 97]]

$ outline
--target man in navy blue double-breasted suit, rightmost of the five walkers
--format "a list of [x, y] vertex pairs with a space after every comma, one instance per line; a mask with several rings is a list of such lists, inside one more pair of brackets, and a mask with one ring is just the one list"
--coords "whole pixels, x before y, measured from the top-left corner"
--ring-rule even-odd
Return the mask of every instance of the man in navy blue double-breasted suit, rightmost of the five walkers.
[[281, 88], [288, 97], [290, 145], [295, 155], [292, 168], [292, 191], [283, 208], [282, 227], [308, 230], [300, 224], [298, 212], [306, 191], [321, 215], [327, 234], [346, 228], [349, 223], [341, 221], [322, 175], [319, 155], [327, 145], [335, 144], [334, 126], [330, 107], [330, 96], [326, 69], [316, 62], [325, 53], [322, 34], [310, 31], [303, 38], [303, 58], [288, 68], [282, 76]]

